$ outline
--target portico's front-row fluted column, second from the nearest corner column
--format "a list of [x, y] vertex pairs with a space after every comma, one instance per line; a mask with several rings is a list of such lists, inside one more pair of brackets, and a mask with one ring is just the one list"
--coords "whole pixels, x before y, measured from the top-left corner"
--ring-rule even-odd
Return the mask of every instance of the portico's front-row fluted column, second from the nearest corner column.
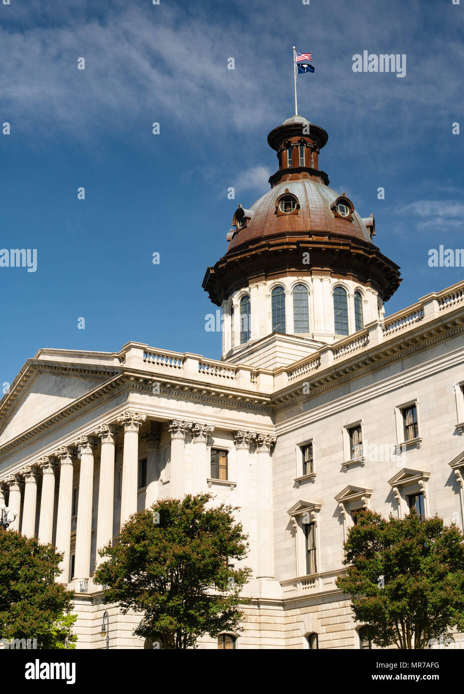
[[101, 439], [100, 483], [97, 520], [97, 557], [95, 563], [101, 564], [101, 550], [113, 539], [113, 502], [115, 490], [115, 432], [109, 424], [101, 424], [95, 433]]

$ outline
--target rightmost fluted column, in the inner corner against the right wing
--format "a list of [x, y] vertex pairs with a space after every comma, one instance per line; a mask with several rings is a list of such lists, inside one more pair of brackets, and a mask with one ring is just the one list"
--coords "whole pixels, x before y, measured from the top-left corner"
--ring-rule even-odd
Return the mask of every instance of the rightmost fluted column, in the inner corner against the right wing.
[[271, 448], [276, 437], [258, 434], [256, 464], [258, 472], [258, 578], [274, 577], [272, 548], [272, 468]]

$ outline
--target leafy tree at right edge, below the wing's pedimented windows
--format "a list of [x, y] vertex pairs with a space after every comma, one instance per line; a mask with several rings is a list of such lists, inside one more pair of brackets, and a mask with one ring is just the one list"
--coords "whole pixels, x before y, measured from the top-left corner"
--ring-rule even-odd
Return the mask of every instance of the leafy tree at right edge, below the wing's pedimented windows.
[[351, 593], [354, 616], [376, 645], [422, 649], [448, 629], [464, 630], [464, 534], [456, 525], [415, 509], [388, 520], [358, 512], [343, 563], [336, 584]]

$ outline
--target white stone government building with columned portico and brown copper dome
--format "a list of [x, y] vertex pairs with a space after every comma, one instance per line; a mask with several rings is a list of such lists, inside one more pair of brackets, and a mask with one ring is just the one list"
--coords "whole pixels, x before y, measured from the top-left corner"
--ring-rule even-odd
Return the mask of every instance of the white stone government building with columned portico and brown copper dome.
[[92, 575], [97, 549], [159, 498], [209, 491], [249, 534], [244, 631], [202, 649], [374, 648], [335, 586], [356, 511], [463, 527], [464, 282], [385, 316], [399, 267], [372, 214], [329, 187], [327, 139], [300, 116], [267, 137], [270, 190], [238, 205], [204, 278], [219, 361], [135, 342], [41, 349], [1, 400], [0, 505], [63, 552], [77, 648], [106, 648], [106, 609], [110, 648], [150, 648]]

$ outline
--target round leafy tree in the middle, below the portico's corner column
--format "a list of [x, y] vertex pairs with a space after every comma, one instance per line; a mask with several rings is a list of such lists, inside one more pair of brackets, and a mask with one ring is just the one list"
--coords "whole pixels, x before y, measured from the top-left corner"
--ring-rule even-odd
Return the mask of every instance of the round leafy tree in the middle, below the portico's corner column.
[[210, 494], [163, 499], [133, 514], [108, 557], [94, 574], [106, 586], [104, 602], [119, 603], [143, 617], [136, 636], [159, 640], [165, 648], [194, 646], [203, 634], [239, 632], [240, 590], [248, 568], [231, 559], [247, 555], [247, 536], [235, 523], [233, 507], [207, 507]]

